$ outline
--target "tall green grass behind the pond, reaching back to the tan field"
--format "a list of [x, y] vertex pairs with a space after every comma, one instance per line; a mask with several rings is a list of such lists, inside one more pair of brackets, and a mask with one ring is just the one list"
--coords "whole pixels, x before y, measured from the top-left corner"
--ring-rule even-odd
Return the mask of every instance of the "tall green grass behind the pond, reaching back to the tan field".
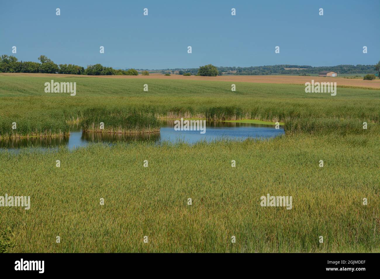
[[[380, 122], [378, 90], [338, 88], [336, 96], [305, 93], [303, 85], [235, 83], [196, 80], [100, 79], [66, 77], [54, 80], [77, 82], [77, 95], [44, 93], [50, 77], [1, 76], [0, 134], [12, 135], [11, 123], [18, 121], [18, 134], [59, 134], [67, 132], [66, 121], [78, 122], [92, 107], [119, 109], [157, 118], [207, 118], [271, 122], [314, 120], [318, 127], [349, 121], [347, 132], [356, 123]], [[143, 91], [144, 84], [149, 91]], [[338, 84], [339, 85], [339, 84]], [[99, 117], [103, 117], [99, 115]], [[154, 121], [152, 119], [152, 121]], [[348, 122], [347, 122], [348, 123]], [[154, 125], [154, 122], [152, 123]], [[290, 127], [290, 126], [287, 126]], [[287, 130], [285, 127], [285, 131]], [[309, 132], [310, 126], [293, 125], [290, 132]], [[304, 129], [305, 128], [305, 129]], [[330, 128], [326, 128], [330, 129]], [[317, 130], [320, 130], [318, 128]]]

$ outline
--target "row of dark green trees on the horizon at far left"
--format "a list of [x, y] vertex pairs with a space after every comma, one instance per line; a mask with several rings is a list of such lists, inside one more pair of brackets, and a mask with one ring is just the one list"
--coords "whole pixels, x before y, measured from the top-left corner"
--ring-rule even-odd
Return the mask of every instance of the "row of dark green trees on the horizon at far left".
[[135, 69], [119, 70], [105, 67], [100, 64], [88, 65], [86, 69], [73, 64], [55, 64], [45, 55], [38, 57], [38, 62], [18, 61], [14, 56], [2, 55], [0, 57], [0, 73], [45, 73], [45, 74], [78, 74], [90, 76], [126, 75], [137, 76]]

